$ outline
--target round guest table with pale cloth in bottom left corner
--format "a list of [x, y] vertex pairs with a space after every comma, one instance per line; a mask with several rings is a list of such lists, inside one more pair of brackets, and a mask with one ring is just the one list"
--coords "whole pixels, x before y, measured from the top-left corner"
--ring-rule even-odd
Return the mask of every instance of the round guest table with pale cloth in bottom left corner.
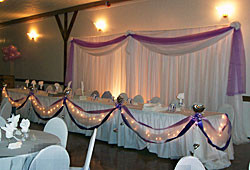
[[[29, 137], [22, 142], [21, 148], [8, 149], [8, 140], [0, 141], [1, 170], [27, 170], [41, 149], [50, 145], [60, 145], [60, 139], [55, 135], [37, 130], [30, 130], [28, 134]], [[15, 139], [12, 139], [12, 142], [16, 142]]]

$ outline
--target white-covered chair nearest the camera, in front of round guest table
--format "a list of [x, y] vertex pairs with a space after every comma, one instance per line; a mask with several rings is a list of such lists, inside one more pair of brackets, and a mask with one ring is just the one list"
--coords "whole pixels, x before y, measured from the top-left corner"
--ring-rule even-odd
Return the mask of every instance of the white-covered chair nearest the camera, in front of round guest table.
[[42, 149], [32, 160], [29, 170], [68, 170], [69, 154], [59, 145], [51, 145]]

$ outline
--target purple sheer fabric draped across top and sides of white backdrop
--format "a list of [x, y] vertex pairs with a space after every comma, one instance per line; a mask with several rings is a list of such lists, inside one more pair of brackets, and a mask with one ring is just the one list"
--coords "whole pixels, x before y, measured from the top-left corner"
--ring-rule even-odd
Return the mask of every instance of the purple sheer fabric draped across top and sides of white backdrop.
[[[148, 37], [137, 34], [128, 34], [123, 35], [113, 40], [105, 41], [105, 42], [86, 42], [78, 39], [73, 39], [70, 45], [70, 54], [69, 60], [66, 70], [65, 83], [67, 84], [69, 81], [72, 81], [73, 76], [73, 60], [74, 60], [74, 44], [77, 44], [82, 47], [88, 48], [99, 48], [105, 47], [108, 45], [116, 44], [127, 37], [131, 36], [132, 38], [149, 44], [159, 44], [159, 45], [173, 45], [173, 44], [183, 44], [183, 43], [191, 43], [197, 42], [201, 40], [206, 40], [209, 38], [216, 37], [227, 31], [234, 29], [234, 27], [224, 27], [212, 31], [207, 31], [198, 34], [192, 34], [187, 36], [180, 36], [174, 38], [159, 38], [159, 37]], [[228, 85], [227, 85], [227, 95], [233, 96], [236, 94], [243, 94], [246, 92], [246, 63], [245, 63], [245, 51], [243, 45], [243, 38], [241, 34], [241, 30], [235, 30], [233, 33], [232, 39], [232, 48], [231, 48], [231, 56], [230, 56], [230, 65], [229, 65], [229, 73], [228, 73]]]

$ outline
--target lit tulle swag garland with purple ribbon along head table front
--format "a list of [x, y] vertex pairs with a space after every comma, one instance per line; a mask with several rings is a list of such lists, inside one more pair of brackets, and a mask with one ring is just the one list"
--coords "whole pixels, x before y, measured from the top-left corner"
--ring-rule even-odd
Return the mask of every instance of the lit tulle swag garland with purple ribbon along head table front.
[[[49, 120], [56, 117], [63, 110], [64, 106], [67, 109], [71, 120], [84, 130], [93, 130], [104, 124], [112, 117], [116, 110], [120, 110], [123, 122], [128, 128], [133, 130], [141, 139], [149, 143], [166, 143], [183, 136], [195, 124], [207, 138], [207, 142], [218, 150], [224, 151], [231, 139], [231, 124], [228, 116], [223, 114], [220, 120], [219, 129], [216, 130], [209, 120], [196, 113], [193, 116], [188, 116], [179, 122], [164, 128], [153, 128], [143, 122], [136, 120], [130, 110], [121, 104], [116, 104], [115, 107], [103, 110], [85, 111], [77, 104], [73, 103], [66, 96], [57, 100], [48, 107], [41, 104], [39, 99], [30, 92], [27, 97], [18, 100], [12, 100], [7, 89], [3, 89], [4, 97], [7, 97], [12, 106], [17, 104], [24, 106], [27, 101], [31, 102], [35, 114], [42, 120]], [[19, 103], [23, 101], [23, 103]], [[17, 102], [17, 103], [15, 103]], [[18, 109], [22, 108], [18, 107]]]

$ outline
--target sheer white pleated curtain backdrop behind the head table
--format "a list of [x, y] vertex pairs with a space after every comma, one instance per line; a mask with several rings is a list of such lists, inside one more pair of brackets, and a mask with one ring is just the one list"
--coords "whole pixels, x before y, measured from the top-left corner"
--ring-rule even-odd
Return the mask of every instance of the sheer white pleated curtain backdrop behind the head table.
[[[219, 28], [218, 26], [173, 31], [136, 32], [155, 37], [177, 37]], [[78, 38], [89, 42], [102, 42], [119, 35]], [[166, 55], [164, 47], [145, 45], [129, 37], [118, 45], [98, 50], [84, 49], [75, 44], [73, 63], [73, 89], [84, 82], [85, 90], [97, 89], [100, 94], [109, 90], [117, 97], [125, 92], [130, 98], [140, 94], [144, 101], [158, 96], [168, 105], [180, 92], [185, 93], [187, 107], [194, 102], [205, 104], [207, 110], [217, 111], [223, 103], [233, 105], [235, 143], [247, 141], [242, 126], [241, 95], [227, 96], [228, 68], [232, 31], [200, 44], [190, 46], [190, 53]], [[213, 44], [213, 45], [211, 45]], [[205, 47], [202, 49], [202, 47]], [[195, 51], [192, 49], [200, 49]], [[195, 52], [193, 52], [195, 51]]]

